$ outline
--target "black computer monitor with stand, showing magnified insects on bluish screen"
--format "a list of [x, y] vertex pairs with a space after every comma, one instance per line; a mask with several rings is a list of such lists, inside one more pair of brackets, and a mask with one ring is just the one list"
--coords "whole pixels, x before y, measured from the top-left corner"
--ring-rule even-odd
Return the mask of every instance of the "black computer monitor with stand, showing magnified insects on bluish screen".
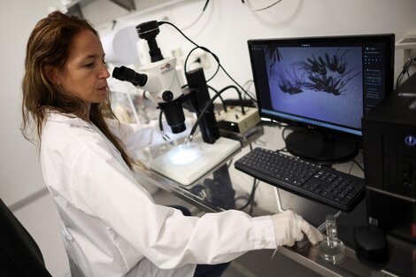
[[248, 41], [262, 119], [295, 128], [292, 154], [336, 162], [357, 154], [361, 119], [393, 91], [395, 35]]

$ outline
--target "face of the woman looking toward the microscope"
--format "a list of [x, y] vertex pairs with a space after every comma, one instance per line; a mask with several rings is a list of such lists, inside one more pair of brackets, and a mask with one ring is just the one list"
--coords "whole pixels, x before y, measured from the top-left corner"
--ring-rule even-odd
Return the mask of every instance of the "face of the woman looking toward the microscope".
[[82, 30], [73, 39], [64, 67], [56, 70], [53, 78], [65, 92], [91, 104], [107, 99], [108, 77], [100, 40], [91, 31]]

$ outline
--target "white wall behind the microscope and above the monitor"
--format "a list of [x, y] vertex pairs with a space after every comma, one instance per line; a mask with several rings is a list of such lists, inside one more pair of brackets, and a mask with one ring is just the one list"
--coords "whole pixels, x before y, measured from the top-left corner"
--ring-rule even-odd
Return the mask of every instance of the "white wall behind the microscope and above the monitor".
[[[111, 11], [102, 12], [93, 19], [97, 7], [104, 8], [105, 0], [90, 4], [84, 14], [96, 24], [102, 34], [111, 25], [104, 24]], [[173, 1], [174, 2], [174, 1]], [[265, 6], [275, 0], [250, 1]], [[119, 25], [137, 25], [147, 20], [167, 18], [177, 27], [189, 26], [202, 11], [205, 0], [176, 1], [178, 4], [155, 12], [137, 12], [119, 19]], [[210, 1], [204, 17], [194, 27], [185, 31], [196, 43], [203, 45], [220, 58], [221, 64], [236, 81], [243, 84], [252, 79], [247, 40], [253, 38], [316, 36], [316, 35], [358, 35], [395, 33], [397, 40], [404, 32], [416, 32], [416, 1], [414, 0], [283, 0], [280, 4], [263, 12], [250, 12], [241, 1]], [[105, 19], [105, 18], [108, 19]], [[94, 21], [95, 20], [95, 21]], [[160, 27], [157, 37], [164, 55], [181, 47], [187, 52], [193, 45], [187, 42], [173, 27]], [[215, 69], [205, 71], [211, 76]], [[403, 50], [397, 50], [397, 72], [403, 65]], [[230, 84], [223, 73], [210, 83], [223, 88]], [[226, 96], [234, 96], [230, 90]], [[235, 96], [234, 96], [235, 97]]]

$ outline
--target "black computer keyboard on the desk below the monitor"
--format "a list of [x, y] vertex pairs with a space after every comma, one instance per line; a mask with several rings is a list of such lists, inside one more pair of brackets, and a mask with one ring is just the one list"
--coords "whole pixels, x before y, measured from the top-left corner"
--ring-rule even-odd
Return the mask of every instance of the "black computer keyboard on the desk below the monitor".
[[275, 187], [351, 211], [364, 197], [364, 180], [301, 158], [256, 148], [235, 168]]

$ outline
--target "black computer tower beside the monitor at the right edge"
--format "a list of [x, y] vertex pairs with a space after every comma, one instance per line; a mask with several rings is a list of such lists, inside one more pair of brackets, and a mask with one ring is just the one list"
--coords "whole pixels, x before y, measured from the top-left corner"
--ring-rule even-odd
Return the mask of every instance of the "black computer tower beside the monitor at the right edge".
[[416, 242], [416, 74], [363, 119], [368, 223]]

